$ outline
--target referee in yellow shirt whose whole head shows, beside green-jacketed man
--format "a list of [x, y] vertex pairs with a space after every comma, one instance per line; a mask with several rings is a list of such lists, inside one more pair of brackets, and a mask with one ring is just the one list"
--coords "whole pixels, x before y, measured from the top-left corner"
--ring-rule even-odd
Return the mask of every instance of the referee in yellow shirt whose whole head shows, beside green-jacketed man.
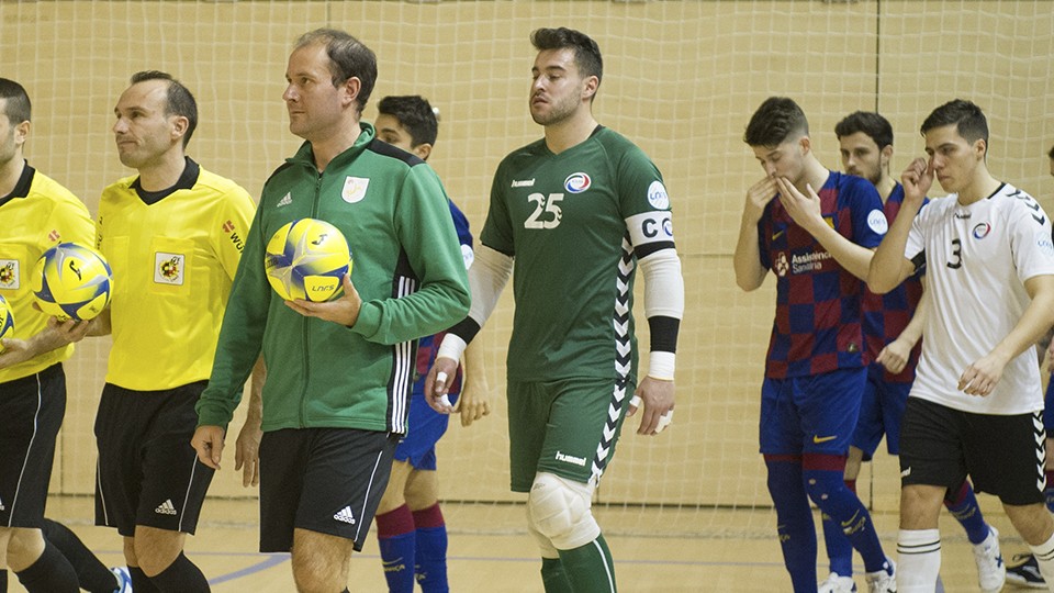
[[121, 163], [137, 174], [99, 202], [97, 246], [114, 291], [91, 329], [113, 336], [96, 418], [96, 523], [124, 536], [133, 590], [209, 591], [183, 555], [213, 473], [190, 437], [255, 206], [186, 156], [198, 108], [170, 75], [134, 75], [113, 111]]

